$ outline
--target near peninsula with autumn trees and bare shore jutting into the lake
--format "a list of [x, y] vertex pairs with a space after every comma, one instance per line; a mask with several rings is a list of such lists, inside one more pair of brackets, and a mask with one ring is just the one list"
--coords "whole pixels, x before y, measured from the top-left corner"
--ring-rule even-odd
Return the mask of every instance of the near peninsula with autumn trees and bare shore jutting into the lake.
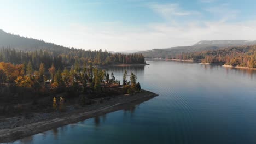
[[[10, 68], [21, 73], [22, 65], [0, 63], [2, 71]], [[29, 67], [28, 67], [29, 68]], [[12, 142], [53, 128], [129, 109], [157, 94], [141, 89], [137, 76], [127, 71], [122, 83], [97, 67], [80, 67], [55, 72], [49, 68], [50, 80], [44, 80], [43, 64], [38, 73], [21, 75], [1, 84], [0, 143]], [[6, 70], [5, 70], [6, 71]], [[28, 71], [28, 70], [27, 70]], [[9, 71], [10, 72], [10, 71]], [[5, 76], [8, 74], [5, 74]], [[10, 90], [9, 90], [10, 89]]]

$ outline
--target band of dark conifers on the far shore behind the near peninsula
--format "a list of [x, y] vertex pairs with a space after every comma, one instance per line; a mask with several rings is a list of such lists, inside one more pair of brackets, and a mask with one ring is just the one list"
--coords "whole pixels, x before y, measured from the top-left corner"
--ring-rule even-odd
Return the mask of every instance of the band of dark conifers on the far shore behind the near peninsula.
[[110, 64], [144, 64], [145, 58], [141, 54], [109, 53], [107, 51], [92, 51], [82, 49], [69, 49], [65, 51], [35, 50], [18, 51], [9, 47], [0, 49], [0, 62], [10, 62], [12, 64], [24, 64], [30, 62], [34, 69], [38, 69], [40, 63], [44, 63], [46, 68], [54, 64], [56, 68], [63, 69], [71, 65], [110, 65]]

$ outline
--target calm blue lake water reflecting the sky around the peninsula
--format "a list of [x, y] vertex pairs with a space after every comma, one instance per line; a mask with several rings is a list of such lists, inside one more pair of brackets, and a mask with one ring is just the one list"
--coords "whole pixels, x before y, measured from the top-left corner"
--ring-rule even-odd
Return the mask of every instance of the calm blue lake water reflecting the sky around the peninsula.
[[69, 124], [14, 143], [256, 143], [256, 71], [147, 61], [133, 71], [159, 94], [131, 109]]

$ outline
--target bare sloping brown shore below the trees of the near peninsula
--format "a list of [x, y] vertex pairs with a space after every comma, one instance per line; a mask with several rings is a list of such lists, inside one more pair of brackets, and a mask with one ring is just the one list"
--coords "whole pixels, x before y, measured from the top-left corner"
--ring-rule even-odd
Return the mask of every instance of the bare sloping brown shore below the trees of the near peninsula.
[[[110, 100], [104, 100], [102, 104], [74, 107], [73, 110], [63, 113], [38, 113], [27, 121], [24, 121], [25, 118], [23, 117], [0, 119], [0, 126], [3, 128], [0, 129], [0, 143], [12, 142], [63, 125], [76, 123], [113, 111], [127, 109], [130, 106], [143, 103], [156, 96], [158, 96], [158, 94], [142, 90], [141, 93], [135, 95], [119, 95]], [[14, 119], [15, 122], [8, 125], [11, 119]]]

